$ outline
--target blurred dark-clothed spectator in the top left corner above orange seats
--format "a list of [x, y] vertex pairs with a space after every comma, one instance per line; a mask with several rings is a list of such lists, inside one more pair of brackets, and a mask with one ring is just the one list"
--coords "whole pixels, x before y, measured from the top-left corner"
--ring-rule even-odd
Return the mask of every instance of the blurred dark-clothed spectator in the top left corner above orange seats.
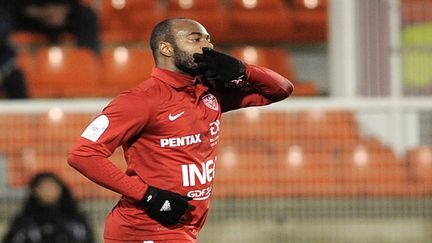
[[99, 52], [97, 14], [78, 0], [0, 0], [0, 8], [2, 40], [22, 30], [44, 34], [56, 43], [70, 33], [78, 46]]

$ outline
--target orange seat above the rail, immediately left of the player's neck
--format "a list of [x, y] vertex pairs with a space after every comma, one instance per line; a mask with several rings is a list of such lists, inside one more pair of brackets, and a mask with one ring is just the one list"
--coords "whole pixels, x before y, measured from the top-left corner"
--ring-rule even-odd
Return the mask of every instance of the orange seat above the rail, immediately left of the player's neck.
[[150, 78], [154, 60], [150, 49], [116, 47], [102, 53], [103, 83], [113, 95]]

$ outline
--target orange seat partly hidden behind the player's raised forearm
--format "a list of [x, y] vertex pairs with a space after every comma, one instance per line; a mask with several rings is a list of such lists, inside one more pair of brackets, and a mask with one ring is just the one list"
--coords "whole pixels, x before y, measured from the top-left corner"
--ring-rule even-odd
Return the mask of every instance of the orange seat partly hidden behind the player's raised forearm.
[[318, 94], [318, 87], [313, 81], [298, 80], [289, 53], [277, 47], [241, 46], [230, 51], [233, 56], [249, 64], [270, 68], [293, 82], [296, 96]]

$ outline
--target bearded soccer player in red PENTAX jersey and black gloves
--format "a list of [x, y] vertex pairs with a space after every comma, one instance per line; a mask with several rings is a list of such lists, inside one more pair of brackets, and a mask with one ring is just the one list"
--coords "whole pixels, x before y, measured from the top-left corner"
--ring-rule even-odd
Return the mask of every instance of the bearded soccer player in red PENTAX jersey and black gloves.
[[[69, 164], [121, 199], [106, 243], [197, 242], [208, 215], [221, 113], [287, 98], [292, 84], [213, 49], [197, 21], [164, 20], [151, 77], [118, 95], [81, 134]], [[253, 131], [251, 131], [253, 132]], [[109, 159], [122, 146], [125, 172]]]

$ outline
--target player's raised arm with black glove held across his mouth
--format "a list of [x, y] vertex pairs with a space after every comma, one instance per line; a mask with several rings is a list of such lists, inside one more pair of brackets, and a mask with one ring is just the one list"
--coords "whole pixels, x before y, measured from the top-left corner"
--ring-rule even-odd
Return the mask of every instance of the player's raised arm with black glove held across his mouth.
[[294, 87], [280, 74], [236, 58], [203, 48], [194, 54], [204, 76], [213, 82], [222, 110], [267, 105], [287, 98]]

